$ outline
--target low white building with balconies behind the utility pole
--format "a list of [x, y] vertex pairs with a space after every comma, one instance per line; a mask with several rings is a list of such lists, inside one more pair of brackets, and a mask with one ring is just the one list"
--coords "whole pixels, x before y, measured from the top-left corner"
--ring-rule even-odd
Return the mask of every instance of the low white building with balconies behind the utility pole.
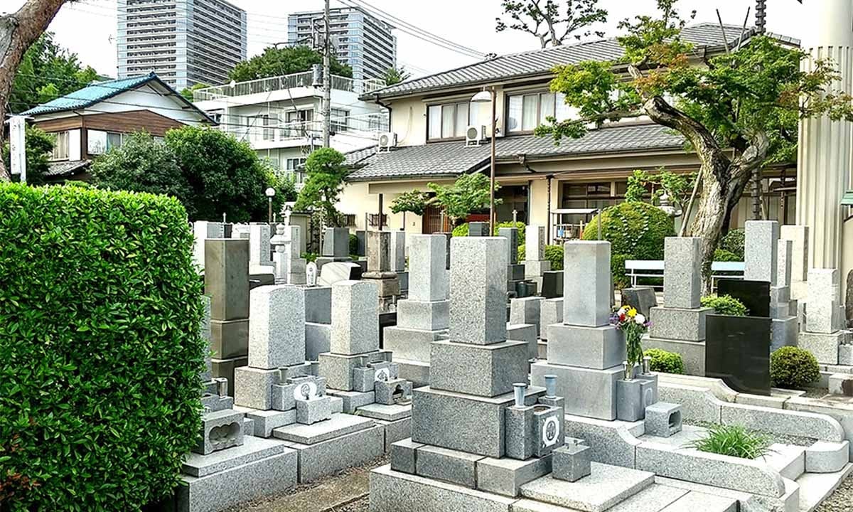
[[[331, 145], [342, 153], [376, 145], [388, 131], [388, 113], [359, 99], [384, 84], [332, 77]], [[194, 105], [219, 129], [251, 144], [282, 175], [305, 181], [299, 166], [322, 147], [322, 84], [314, 73], [236, 82], [194, 91]]]

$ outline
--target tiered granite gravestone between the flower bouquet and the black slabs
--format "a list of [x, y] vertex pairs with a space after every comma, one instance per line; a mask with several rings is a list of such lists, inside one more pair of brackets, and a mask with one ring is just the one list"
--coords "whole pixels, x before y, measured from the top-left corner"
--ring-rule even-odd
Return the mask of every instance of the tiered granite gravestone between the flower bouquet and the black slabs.
[[688, 375], [705, 375], [705, 320], [702, 307], [699, 238], [669, 237], [664, 241], [664, 305], [652, 306], [652, 326], [643, 335], [644, 349], [659, 348], [682, 356]]

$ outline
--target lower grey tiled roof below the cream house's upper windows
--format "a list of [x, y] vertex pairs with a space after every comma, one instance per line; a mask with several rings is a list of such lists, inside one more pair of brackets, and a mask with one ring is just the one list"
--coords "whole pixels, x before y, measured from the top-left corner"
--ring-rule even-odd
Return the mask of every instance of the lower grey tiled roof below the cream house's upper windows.
[[[497, 140], [496, 160], [527, 157], [571, 156], [643, 149], [682, 148], [684, 137], [660, 125], [617, 125], [592, 130], [579, 139], [563, 138], [555, 145], [550, 137], [519, 136]], [[456, 177], [488, 165], [490, 146], [465, 147], [461, 141], [394, 148], [376, 153], [376, 148], [346, 154], [346, 164], [355, 169], [347, 181]]]

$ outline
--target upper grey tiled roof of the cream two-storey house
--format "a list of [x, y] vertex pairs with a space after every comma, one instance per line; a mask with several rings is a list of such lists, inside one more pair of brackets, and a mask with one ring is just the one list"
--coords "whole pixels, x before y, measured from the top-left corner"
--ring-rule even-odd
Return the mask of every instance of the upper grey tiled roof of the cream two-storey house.
[[[728, 45], [734, 47], [740, 39], [741, 26], [726, 25]], [[744, 34], [744, 39], [755, 35], [755, 28], [750, 27]], [[794, 38], [777, 34], [768, 34], [787, 44], [799, 44]], [[695, 47], [722, 47], [724, 38], [717, 23], [699, 23], [687, 26], [682, 30], [682, 38]], [[460, 85], [488, 84], [504, 79], [517, 79], [525, 76], [538, 76], [551, 73], [558, 64], [575, 64], [581, 61], [612, 61], [622, 56], [622, 48], [615, 38], [590, 41], [577, 44], [566, 44], [546, 49], [536, 49], [522, 53], [500, 55], [488, 61], [475, 62], [468, 66], [457, 67], [450, 71], [435, 73], [426, 77], [409, 79], [384, 89], [375, 90], [365, 97], [404, 96], [427, 90], [440, 90]]]

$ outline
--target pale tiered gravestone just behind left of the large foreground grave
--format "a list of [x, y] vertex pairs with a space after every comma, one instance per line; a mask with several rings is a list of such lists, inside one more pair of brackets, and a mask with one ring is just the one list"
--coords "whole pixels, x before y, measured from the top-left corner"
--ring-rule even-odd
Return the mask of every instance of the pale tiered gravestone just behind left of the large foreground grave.
[[429, 384], [432, 342], [450, 328], [447, 239], [413, 235], [409, 242], [409, 297], [397, 302], [397, 325], [385, 328], [383, 346], [394, 353], [400, 376], [420, 387]]

